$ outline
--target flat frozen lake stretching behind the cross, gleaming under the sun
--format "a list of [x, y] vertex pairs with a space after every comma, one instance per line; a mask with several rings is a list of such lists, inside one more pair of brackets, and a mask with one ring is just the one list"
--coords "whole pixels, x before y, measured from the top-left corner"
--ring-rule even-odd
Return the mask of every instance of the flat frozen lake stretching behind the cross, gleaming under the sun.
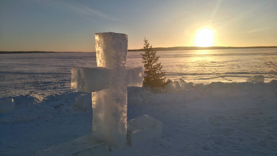
[[[128, 52], [127, 65], [143, 66], [143, 52]], [[166, 77], [187, 82], [244, 82], [264, 75], [277, 79], [277, 48], [158, 51]], [[72, 66], [96, 66], [95, 53], [0, 54], [0, 98], [30, 92], [70, 90]]]

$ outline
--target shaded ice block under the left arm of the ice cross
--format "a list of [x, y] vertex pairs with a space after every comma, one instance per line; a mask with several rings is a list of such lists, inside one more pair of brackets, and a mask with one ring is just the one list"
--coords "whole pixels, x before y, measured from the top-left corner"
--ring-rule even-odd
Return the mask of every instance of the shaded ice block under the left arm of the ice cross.
[[91, 94], [81, 94], [75, 97], [74, 107], [79, 109], [89, 109], [91, 106]]

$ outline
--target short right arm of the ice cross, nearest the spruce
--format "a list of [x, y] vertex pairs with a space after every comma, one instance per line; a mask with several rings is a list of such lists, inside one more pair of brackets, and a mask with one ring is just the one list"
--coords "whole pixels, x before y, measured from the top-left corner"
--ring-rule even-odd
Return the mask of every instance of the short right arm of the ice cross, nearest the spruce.
[[128, 86], [142, 87], [143, 85], [143, 68], [142, 67], [127, 67]]

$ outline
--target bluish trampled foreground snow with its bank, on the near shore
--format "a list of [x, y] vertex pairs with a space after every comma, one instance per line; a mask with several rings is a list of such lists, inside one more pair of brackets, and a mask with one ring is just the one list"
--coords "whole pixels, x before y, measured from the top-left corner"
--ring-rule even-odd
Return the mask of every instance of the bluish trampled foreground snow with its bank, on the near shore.
[[[163, 136], [111, 155], [277, 155], [276, 80], [192, 88], [154, 94], [129, 87], [128, 120], [154, 117], [163, 123]], [[73, 107], [80, 94], [68, 89], [10, 96], [16, 109], [0, 114], [0, 155], [35, 155], [91, 133], [92, 110]]]

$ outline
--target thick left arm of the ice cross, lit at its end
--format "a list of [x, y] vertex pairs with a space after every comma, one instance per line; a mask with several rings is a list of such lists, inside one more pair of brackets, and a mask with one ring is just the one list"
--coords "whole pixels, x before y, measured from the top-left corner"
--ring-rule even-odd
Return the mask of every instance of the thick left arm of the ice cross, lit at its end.
[[71, 89], [91, 93], [108, 88], [110, 74], [100, 67], [72, 67]]

